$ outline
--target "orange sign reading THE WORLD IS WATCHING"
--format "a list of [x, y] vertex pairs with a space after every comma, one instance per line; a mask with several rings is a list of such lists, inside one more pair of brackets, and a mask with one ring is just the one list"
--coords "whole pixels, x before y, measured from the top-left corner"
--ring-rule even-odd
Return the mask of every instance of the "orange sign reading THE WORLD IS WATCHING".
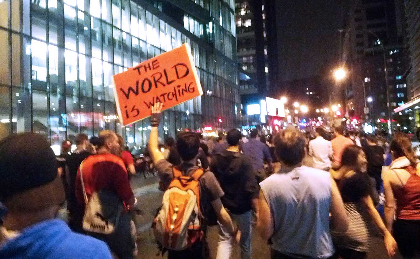
[[187, 43], [115, 74], [113, 85], [124, 126], [150, 116], [155, 103], [165, 110], [203, 94]]

